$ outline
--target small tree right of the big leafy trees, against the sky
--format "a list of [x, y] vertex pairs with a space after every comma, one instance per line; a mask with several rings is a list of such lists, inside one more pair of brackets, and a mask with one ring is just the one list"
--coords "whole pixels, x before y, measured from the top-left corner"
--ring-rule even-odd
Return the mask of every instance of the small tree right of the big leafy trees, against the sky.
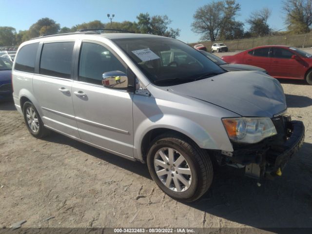
[[272, 11], [265, 7], [259, 11], [254, 11], [246, 20], [250, 25], [250, 33], [252, 36], [266, 36], [270, 34], [271, 28], [269, 27], [267, 21], [271, 16]]

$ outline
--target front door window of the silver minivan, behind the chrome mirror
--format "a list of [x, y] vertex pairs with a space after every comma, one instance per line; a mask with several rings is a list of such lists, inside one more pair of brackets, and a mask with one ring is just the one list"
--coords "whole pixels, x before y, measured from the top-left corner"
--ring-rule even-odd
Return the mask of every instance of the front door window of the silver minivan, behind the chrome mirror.
[[83, 82], [102, 85], [104, 72], [121, 71], [126, 74], [126, 68], [106, 47], [82, 42], [79, 58], [79, 77]]

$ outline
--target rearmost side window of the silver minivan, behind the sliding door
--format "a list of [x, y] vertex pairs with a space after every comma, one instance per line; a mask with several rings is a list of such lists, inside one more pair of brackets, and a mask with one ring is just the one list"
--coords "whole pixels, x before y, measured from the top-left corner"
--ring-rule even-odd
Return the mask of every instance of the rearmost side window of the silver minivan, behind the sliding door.
[[34, 72], [35, 60], [37, 55], [39, 42], [24, 45], [20, 48], [19, 54], [15, 61], [15, 70], [22, 72]]

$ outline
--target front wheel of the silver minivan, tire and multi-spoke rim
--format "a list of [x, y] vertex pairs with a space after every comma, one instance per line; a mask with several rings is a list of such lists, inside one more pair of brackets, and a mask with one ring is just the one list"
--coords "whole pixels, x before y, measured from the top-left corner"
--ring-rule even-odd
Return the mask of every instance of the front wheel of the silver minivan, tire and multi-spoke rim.
[[181, 202], [193, 202], [204, 195], [214, 174], [207, 151], [177, 134], [164, 134], [153, 140], [147, 166], [159, 188]]

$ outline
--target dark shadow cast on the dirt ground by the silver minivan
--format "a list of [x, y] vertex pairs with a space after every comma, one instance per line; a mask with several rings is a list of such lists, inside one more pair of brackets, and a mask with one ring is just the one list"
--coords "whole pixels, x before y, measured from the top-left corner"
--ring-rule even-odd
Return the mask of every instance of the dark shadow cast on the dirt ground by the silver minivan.
[[[106, 153], [76, 140], [53, 133], [48, 141], [67, 144], [90, 156], [152, 179], [146, 164]], [[207, 214], [255, 228], [312, 227], [312, 144], [304, 143], [281, 177], [257, 180], [244, 170], [216, 167], [209, 191], [199, 201], [186, 203]], [[207, 219], [207, 222], [209, 220]]]

